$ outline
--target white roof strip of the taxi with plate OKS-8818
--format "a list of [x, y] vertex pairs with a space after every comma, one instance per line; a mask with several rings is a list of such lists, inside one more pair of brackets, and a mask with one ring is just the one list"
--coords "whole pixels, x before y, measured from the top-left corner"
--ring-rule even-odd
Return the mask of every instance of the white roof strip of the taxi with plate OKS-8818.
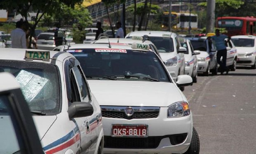
[[[65, 45], [65, 49], [68, 46]], [[126, 50], [138, 50], [138, 51], [151, 51], [151, 50], [144, 50], [144, 49], [133, 49], [132, 46], [129, 45], [111, 45], [109, 48], [108, 44], [71, 44], [68, 49], [126, 49]]]

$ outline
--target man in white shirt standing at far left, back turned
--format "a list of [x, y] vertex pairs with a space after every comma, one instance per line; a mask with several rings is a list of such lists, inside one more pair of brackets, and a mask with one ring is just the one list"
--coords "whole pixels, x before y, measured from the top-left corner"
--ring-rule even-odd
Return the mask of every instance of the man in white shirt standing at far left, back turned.
[[22, 28], [25, 27], [23, 20], [16, 22], [16, 29], [11, 31], [12, 48], [26, 49], [26, 33]]

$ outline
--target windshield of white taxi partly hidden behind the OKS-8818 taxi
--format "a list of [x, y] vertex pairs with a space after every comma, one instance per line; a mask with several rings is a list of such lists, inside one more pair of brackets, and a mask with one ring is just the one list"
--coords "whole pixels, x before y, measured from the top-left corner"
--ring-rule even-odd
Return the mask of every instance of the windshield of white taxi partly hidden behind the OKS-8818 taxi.
[[174, 52], [172, 38], [149, 37], [149, 40], [157, 47], [158, 52]]

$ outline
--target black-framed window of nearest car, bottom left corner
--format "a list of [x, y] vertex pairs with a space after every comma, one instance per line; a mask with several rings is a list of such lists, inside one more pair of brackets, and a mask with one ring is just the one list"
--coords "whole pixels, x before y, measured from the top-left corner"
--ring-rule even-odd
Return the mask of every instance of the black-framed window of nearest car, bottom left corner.
[[15, 132], [15, 125], [18, 123], [15, 119], [12, 119], [13, 113], [9, 104], [8, 96], [0, 95], [0, 153], [15, 153], [22, 149], [19, 145], [19, 140], [21, 142], [20, 134]]

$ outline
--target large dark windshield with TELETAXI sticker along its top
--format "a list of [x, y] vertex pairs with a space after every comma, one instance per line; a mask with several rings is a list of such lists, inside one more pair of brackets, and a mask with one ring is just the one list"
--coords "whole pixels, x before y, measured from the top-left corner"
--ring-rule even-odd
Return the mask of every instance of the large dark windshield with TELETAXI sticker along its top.
[[128, 74], [170, 82], [154, 52], [123, 49], [69, 49], [67, 52], [79, 60], [87, 78]]

